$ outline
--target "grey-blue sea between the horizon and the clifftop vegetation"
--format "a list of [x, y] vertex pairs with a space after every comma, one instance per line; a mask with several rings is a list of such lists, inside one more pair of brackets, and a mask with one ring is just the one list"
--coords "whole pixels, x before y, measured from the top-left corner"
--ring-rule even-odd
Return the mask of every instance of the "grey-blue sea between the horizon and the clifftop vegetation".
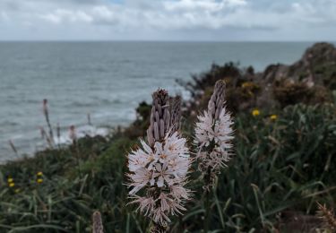
[[43, 145], [42, 99], [53, 125], [127, 125], [134, 108], [157, 88], [183, 92], [176, 79], [190, 79], [213, 62], [291, 64], [312, 43], [214, 42], [2, 42], [0, 43], [0, 160]]

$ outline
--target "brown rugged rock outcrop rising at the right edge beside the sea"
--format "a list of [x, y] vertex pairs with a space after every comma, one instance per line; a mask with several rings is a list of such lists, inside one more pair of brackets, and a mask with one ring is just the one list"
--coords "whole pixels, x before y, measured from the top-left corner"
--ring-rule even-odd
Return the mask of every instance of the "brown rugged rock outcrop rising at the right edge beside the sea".
[[254, 78], [262, 87], [257, 106], [327, 101], [336, 90], [336, 47], [316, 43], [293, 65], [269, 65]]

